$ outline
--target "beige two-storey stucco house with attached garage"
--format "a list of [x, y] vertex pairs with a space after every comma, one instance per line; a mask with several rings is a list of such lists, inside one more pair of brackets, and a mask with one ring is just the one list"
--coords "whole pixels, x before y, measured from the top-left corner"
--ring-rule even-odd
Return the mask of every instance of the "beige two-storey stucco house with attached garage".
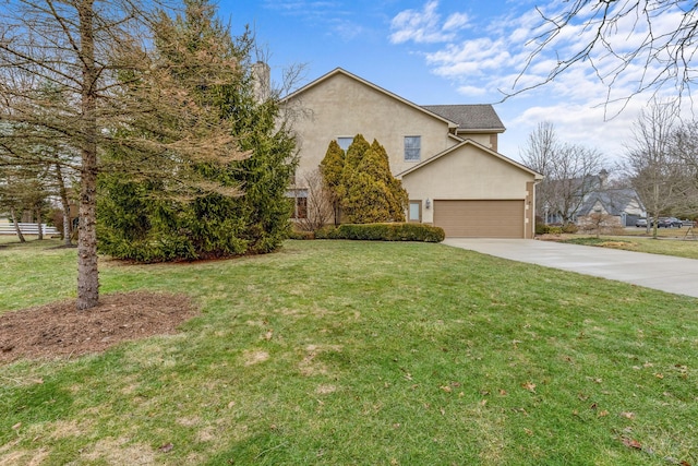
[[[491, 105], [419, 106], [340, 68], [284, 99], [300, 115], [300, 162], [293, 192], [304, 202], [305, 175], [332, 140], [347, 148], [356, 134], [377, 140], [409, 194], [410, 222], [449, 237], [532, 238], [540, 174], [497, 152], [505, 131]], [[303, 194], [305, 193], [305, 194]]]

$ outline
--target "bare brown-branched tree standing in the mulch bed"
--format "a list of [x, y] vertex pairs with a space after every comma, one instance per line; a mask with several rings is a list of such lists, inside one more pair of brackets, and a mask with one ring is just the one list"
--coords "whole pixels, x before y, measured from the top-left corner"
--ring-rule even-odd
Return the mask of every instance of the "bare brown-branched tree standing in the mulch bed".
[[[98, 303], [96, 187], [98, 172], [109, 169], [103, 155], [119, 146], [131, 155], [120, 158], [120, 169], [144, 178], [169, 177], [173, 192], [195, 181], [192, 160], [242, 156], [228, 128], [191, 92], [225, 81], [226, 73], [234, 72], [234, 57], [217, 60], [204, 50], [194, 57], [197, 63], [161, 60], [147, 49], [154, 14], [165, 14], [151, 10], [156, 5], [16, 0], [0, 11], [0, 156], [14, 165], [57, 163], [36, 151], [52, 144], [77, 154], [60, 164], [80, 177], [80, 310]], [[168, 46], [181, 47], [176, 41]], [[177, 76], [178, 68], [202, 73]], [[45, 98], [38, 91], [46, 86], [59, 97]], [[157, 138], [143, 138], [144, 132]]]

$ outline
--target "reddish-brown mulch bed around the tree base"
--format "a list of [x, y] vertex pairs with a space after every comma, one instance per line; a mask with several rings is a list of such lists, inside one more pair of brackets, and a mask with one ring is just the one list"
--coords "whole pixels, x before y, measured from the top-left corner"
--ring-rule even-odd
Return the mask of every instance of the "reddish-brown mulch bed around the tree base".
[[98, 353], [124, 340], [173, 334], [197, 313], [186, 296], [146, 291], [103, 295], [88, 311], [65, 300], [8, 312], [0, 315], [0, 365]]

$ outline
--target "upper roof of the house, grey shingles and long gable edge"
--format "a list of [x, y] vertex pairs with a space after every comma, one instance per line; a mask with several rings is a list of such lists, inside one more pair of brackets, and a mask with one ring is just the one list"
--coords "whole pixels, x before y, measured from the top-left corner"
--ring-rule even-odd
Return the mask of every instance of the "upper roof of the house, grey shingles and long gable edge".
[[504, 128], [504, 124], [502, 124], [502, 120], [500, 120], [500, 117], [494, 111], [494, 108], [489, 104], [419, 106], [404, 97], [398, 96], [397, 94], [386, 91], [383, 87], [377, 86], [372, 82], [364, 80], [363, 77], [359, 77], [356, 74], [352, 74], [341, 68], [336, 68], [329, 73], [320, 76], [315, 81], [312, 81], [309, 84], [305, 84], [303, 87], [284, 97], [281, 101], [288, 101], [294, 97], [298, 97], [300, 94], [304, 93], [311, 87], [314, 87], [338, 74], [344, 74], [345, 76], [351, 77], [369, 87], [372, 87], [375, 91], [378, 91], [396, 100], [401, 101], [402, 104], [406, 104], [417, 110], [428, 113], [431, 117], [437, 118], [448, 123], [448, 128], [452, 130], [456, 130], [457, 133], [473, 133], [473, 132], [501, 133], [506, 130], [506, 128]]

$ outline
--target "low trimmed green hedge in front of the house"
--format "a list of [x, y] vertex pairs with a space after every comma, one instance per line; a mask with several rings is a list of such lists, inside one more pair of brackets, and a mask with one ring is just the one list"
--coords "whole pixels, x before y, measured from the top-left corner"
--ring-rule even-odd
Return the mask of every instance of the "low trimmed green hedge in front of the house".
[[442, 228], [424, 224], [344, 224], [338, 227], [323, 227], [315, 231], [315, 238], [441, 242], [445, 234]]

